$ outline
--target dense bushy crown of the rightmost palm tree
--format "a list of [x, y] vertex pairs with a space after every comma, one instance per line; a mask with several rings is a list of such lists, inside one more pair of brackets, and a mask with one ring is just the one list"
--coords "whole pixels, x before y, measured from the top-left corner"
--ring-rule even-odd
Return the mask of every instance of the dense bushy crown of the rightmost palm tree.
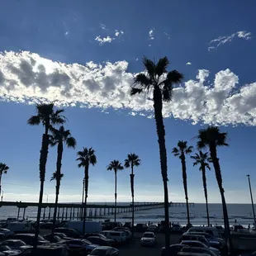
[[206, 129], [199, 130], [197, 139], [198, 149], [206, 148], [206, 146], [228, 146], [228, 134], [220, 132], [219, 127], [216, 126], [209, 126]]

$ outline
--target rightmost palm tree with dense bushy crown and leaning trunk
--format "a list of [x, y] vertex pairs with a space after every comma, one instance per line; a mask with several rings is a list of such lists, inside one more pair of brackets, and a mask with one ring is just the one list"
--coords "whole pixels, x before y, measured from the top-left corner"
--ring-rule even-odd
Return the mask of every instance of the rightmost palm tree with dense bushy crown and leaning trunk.
[[224, 218], [224, 225], [225, 225], [225, 238], [230, 243], [230, 250], [233, 250], [232, 240], [230, 239], [230, 221], [228, 216], [228, 211], [225, 203], [225, 195], [224, 195], [224, 188], [222, 184], [222, 175], [220, 170], [220, 162], [217, 156], [217, 147], [221, 146], [228, 146], [227, 143], [227, 133], [220, 132], [219, 127], [216, 126], [209, 126], [206, 129], [199, 130], [197, 135], [197, 148], [209, 148], [211, 160], [213, 167], [216, 173], [216, 180], [218, 183], [218, 187], [220, 190], [220, 197], [222, 201], [222, 210], [223, 210], [223, 218]]

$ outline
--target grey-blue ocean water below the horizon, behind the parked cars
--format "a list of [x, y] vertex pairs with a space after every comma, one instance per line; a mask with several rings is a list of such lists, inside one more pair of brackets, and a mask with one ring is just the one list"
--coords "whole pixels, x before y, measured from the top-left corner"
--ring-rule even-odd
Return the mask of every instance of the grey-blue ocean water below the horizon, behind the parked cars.
[[[102, 205], [113, 205], [113, 203], [106, 202], [95, 202], [95, 204]], [[119, 202], [119, 205], [129, 205], [127, 202]], [[237, 224], [240, 225], [252, 225], [254, 223], [252, 206], [250, 204], [227, 204], [228, 213], [230, 217], [230, 225], [235, 224], [235, 220]], [[206, 205], [203, 203], [195, 203], [194, 206], [189, 208], [190, 210], [190, 218], [192, 225], [206, 225]], [[17, 207], [16, 206], [2, 206], [0, 207], [0, 219], [4, 220], [7, 217], [17, 217]], [[42, 216], [44, 210], [42, 209]], [[37, 208], [36, 207], [27, 207], [25, 218], [29, 220], [36, 220]], [[49, 215], [49, 208], [45, 210], [45, 217]], [[211, 224], [212, 225], [223, 225], [223, 216], [222, 216], [222, 206], [221, 204], [209, 204], [209, 214], [211, 216]], [[20, 211], [20, 218], [23, 216], [23, 210]], [[51, 209], [51, 217], [53, 216], [53, 209]], [[60, 215], [62, 216], [62, 211], [60, 211]], [[64, 215], [65, 216], [65, 215]], [[68, 219], [70, 213], [68, 211]], [[77, 216], [77, 212], [75, 211], [75, 216]], [[187, 213], [186, 206], [176, 207], [172, 206], [169, 208], [169, 216], [170, 221], [174, 223], [179, 223], [180, 225], [187, 224]], [[101, 220], [110, 219], [113, 220], [113, 215], [111, 216], [102, 216]], [[118, 221], [126, 222], [130, 221], [131, 213], [119, 213], [116, 215]], [[92, 220], [99, 220], [92, 219]], [[135, 211], [135, 223], [148, 223], [149, 221], [153, 223], [159, 223], [161, 220], [164, 220], [164, 208], [158, 208], [153, 210], [146, 211]]]

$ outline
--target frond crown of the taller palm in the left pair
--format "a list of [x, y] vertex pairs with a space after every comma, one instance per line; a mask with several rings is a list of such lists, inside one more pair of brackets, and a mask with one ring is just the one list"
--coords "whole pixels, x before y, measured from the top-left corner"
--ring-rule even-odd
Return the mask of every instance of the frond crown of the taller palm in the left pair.
[[61, 115], [64, 112], [63, 109], [59, 109], [55, 111], [55, 104], [37, 104], [36, 105], [36, 116], [31, 116], [31, 118], [27, 121], [28, 125], [38, 126], [42, 123], [43, 126], [52, 126], [56, 124], [64, 124], [66, 118]]

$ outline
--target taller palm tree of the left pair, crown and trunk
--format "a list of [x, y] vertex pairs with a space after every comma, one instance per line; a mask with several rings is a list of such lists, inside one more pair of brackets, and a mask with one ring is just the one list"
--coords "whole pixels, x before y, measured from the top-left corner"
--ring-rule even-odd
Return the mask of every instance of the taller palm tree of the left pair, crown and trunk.
[[39, 225], [40, 225], [40, 215], [41, 215], [41, 205], [43, 201], [44, 195], [44, 183], [45, 183], [45, 167], [48, 157], [48, 148], [50, 144], [49, 140], [49, 131], [55, 125], [63, 124], [65, 122], [65, 117], [61, 115], [63, 113], [63, 109], [59, 109], [55, 111], [55, 104], [37, 104], [36, 105], [36, 116], [31, 116], [31, 118], [27, 121], [27, 124], [30, 126], [39, 126], [42, 124], [45, 127], [45, 133], [42, 136], [42, 143], [40, 149], [40, 164], [39, 164], [39, 172], [40, 172], [40, 196], [38, 202], [38, 210], [37, 210], [37, 218], [36, 218], [36, 230], [35, 230], [35, 243], [34, 248], [37, 247], [37, 239], [39, 234]]

